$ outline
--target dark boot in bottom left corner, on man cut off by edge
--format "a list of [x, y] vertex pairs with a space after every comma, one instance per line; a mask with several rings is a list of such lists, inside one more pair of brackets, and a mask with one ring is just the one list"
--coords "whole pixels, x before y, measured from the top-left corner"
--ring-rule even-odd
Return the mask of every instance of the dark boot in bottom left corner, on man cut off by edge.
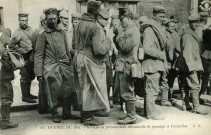
[[18, 127], [18, 123], [12, 123], [10, 119], [10, 105], [1, 105], [1, 129], [9, 129]]

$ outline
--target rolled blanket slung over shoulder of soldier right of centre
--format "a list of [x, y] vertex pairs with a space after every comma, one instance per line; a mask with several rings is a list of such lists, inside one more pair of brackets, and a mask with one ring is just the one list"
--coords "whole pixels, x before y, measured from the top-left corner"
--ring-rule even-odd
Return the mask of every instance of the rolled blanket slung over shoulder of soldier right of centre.
[[153, 29], [160, 43], [160, 47], [163, 50], [166, 43], [166, 34], [163, 27], [155, 20], [148, 20], [141, 25], [141, 31], [144, 31], [147, 27], [151, 27]]

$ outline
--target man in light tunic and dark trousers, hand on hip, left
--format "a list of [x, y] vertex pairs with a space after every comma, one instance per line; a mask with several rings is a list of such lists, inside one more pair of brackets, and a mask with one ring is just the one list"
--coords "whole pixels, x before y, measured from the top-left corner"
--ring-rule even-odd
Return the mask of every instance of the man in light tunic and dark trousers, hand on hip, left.
[[14, 32], [9, 44], [9, 48], [17, 51], [25, 60], [25, 66], [20, 69], [20, 85], [22, 91], [22, 101], [28, 103], [36, 103], [34, 99], [37, 96], [30, 94], [31, 82], [35, 78], [34, 74], [34, 53], [31, 27], [28, 26], [28, 14], [20, 13], [19, 16], [19, 28]]

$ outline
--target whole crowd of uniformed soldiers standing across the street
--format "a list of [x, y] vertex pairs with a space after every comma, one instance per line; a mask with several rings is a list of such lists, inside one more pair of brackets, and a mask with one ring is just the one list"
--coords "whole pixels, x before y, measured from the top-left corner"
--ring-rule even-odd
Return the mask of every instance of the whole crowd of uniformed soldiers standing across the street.
[[[9, 121], [14, 79], [9, 50], [25, 60], [20, 69], [22, 101], [36, 103], [38, 97], [30, 93], [30, 87], [37, 77], [39, 113], [51, 112], [55, 123], [61, 122], [57, 111], [60, 105], [63, 120], [80, 119], [86, 126], [97, 126], [104, 122], [94, 116], [109, 117], [113, 103], [121, 104], [122, 109], [124, 103], [126, 114], [118, 123], [133, 124], [136, 95], [144, 96], [147, 119], [163, 120], [155, 100], [161, 92], [161, 106], [172, 106], [175, 78], [182, 91], [183, 110], [207, 114], [199, 103], [207, 89], [211, 64], [206, 17], [191, 14], [189, 23], [178, 32], [178, 20], [174, 16], [165, 18], [165, 13], [165, 8], [154, 6], [153, 19], [148, 19], [119, 8], [119, 15], [111, 16], [107, 29], [109, 9], [91, 0], [87, 13], [72, 15], [71, 30], [68, 11], [49, 8], [34, 32], [28, 26], [28, 14], [20, 13], [20, 25], [12, 37], [8, 28], [1, 32], [0, 127], [18, 126]], [[80, 117], [71, 114], [71, 107], [80, 111]]]

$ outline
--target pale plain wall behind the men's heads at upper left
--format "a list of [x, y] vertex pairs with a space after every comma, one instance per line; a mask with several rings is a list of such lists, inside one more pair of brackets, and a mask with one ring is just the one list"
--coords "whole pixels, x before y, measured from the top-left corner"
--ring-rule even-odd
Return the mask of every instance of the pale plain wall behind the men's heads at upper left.
[[[22, 4], [19, 6], [18, 1]], [[32, 29], [38, 28], [40, 15], [46, 8], [54, 7], [59, 10], [69, 10], [76, 12], [75, 0], [0, 0], [0, 7], [3, 7], [4, 25], [11, 28], [12, 32], [18, 28], [18, 13], [23, 11], [29, 13], [29, 26]], [[71, 23], [71, 21], [70, 21]]]

